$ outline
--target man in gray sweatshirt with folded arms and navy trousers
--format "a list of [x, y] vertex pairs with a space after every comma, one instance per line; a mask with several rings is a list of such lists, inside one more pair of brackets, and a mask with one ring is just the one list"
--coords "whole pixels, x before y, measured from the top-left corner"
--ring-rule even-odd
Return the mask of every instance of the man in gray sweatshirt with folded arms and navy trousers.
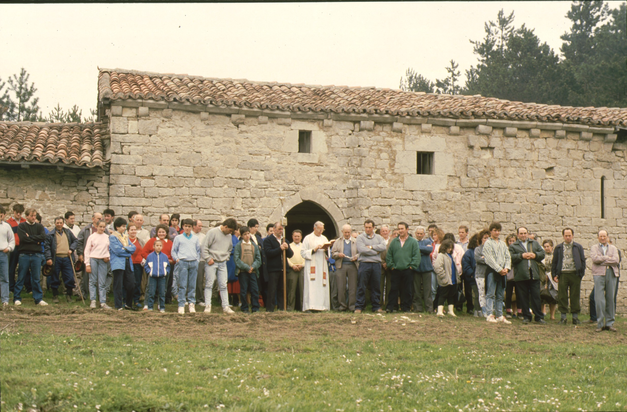
[[386, 250], [386, 241], [374, 233], [374, 221], [364, 222], [364, 233], [357, 236], [357, 302], [355, 313], [361, 314], [366, 308], [366, 287], [370, 284], [372, 312], [381, 310], [381, 252]]

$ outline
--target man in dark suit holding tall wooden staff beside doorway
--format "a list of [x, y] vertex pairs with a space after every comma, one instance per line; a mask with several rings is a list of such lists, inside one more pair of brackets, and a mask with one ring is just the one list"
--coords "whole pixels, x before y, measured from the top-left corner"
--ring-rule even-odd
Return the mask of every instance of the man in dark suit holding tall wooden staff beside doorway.
[[[266, 312], [274, 312], [275, 301], [278, 309], [283, 310], [285, 309], [283, 308], [283, 250], [288, 258], [291, 258], [294, 252], [283, 238], [283, 226], [280, 222], [275, 223], [272, 235], [266, 236], [263, 240], [263, 249], [266, 253], [268, 268]], [[285, 265], [287, 265], [287, 259]]]

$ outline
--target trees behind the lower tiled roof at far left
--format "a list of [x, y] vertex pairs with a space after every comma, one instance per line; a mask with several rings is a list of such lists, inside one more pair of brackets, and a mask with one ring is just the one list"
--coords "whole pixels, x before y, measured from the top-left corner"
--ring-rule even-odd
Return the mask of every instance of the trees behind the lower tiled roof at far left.
[[93, 122], [96, 114], [91, 110], [89, 117], [83, 117], [83, 110], [74, 105], [63, 110], [56, 103], [51, 112], [44, 116], [39, 107], [39, 98], [35, 97], [37, 88], [30, 82], [30, 75], [21, 68], [19, 75], [14, 74], [6, 82], [0, 78], [0, 120], [8, 122], [50, 122], [50, 123], [81, 123]]

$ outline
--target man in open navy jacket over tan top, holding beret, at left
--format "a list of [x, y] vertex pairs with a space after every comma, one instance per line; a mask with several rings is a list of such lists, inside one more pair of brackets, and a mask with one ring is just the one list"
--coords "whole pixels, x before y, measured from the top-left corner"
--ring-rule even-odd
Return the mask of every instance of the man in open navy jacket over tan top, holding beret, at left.
[[46, 265], [53, 267], [50, 276], [50, 288], [52, 289], [52, 301], [59, 303], [59, 285], [60, 276], [63, 278], [65, 285], [66, 299], [72, 301], [72, 291], [75, 287], [74, 271], [72, 266], [72, 254], [78, 245], [78, 239], [71, 230], [63, 227], [65, 219], [62, 216], [55, 218], [55, 230], [46, 235], [46, 243], [44, 244], [44, 256]]

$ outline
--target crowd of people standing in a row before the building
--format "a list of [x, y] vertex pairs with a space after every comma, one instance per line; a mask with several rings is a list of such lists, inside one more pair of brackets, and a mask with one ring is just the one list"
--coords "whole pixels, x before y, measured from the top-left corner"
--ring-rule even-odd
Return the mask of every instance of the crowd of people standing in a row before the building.
[[[6, 220], [6, 221], [5, 221]], [[13, 205], [6, 219], [0, 206], [0, 297], [21, 305], [22, 293], [32, 293], [36, 305], [60, 303], [60, 292], [90, 301], [90, 307], [165, 312], [175, 302], [179, 314], [196, 305], [211, 312], [214, 286], [223, 312], [279, 310], [350, 311], [367, 308], [382, 312], [428, 312], [456, 317], [463, 311], [493, 324], [546, 324], [556, 310], [559, 324], [581, 324], [581, 280], [586, 272], [584, 249], [572, 228], [554, 246], [527, 228], [501, 239], [502, 226], [493, 222], [470, 236], [460, 226], [458, 238], [436, 224], [418, 226], [413, 234], [401, 222], [378, 229], [367, 219], [363, 231], [349, 224], [335, 240], [324, 235], [324, 223], [312, 233], [292, 231], [288, 243], [281, 222], [266, 226], [250, 219], [240, 225], [225, 219], [203, 233], [203, 223], [162, 214], [147, 230], [135, 211], [115, 216], [112, 209], [93, 213], [83, 228], [68, 211], [41, 224], [33, 208]], [[591, 319], [597, 332], [616, 331], [614, 314], [618, 292], [620, 251], [607, 231], [598, 232], [590, 249], [594, 290], [589, 296]], [[17, 277], [16, 277], [17, 273]], [[285, 283], [285, 286], [284, 286]], [[285, 290], [284, 290], [285, 288]], [[113, 307], [108, 295], [113, 292]], [[445, 309], [446, 308], [446, 309]]]

